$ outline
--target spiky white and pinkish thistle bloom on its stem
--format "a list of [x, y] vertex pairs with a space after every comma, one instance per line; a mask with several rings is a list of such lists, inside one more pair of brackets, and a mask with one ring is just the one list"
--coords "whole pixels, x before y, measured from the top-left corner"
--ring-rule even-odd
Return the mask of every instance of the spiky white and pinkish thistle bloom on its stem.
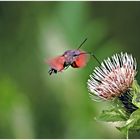
[[91, 95], [112, 99], [127, 92], [136, 75], [136, 60], [131, 54], [115, 54], [96, 67], [87, 82]]

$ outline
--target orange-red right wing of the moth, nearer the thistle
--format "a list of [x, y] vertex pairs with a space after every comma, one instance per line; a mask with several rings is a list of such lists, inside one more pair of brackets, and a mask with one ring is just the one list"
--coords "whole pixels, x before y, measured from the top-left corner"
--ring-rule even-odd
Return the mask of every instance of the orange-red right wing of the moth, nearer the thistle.
[[86, 52], [81, 51], [81, 54], [77, 56], [76, 60], [72, 63], [71, 66], [73, 68], [82, 68], [87, 64], [88, 60], [89, 55]]

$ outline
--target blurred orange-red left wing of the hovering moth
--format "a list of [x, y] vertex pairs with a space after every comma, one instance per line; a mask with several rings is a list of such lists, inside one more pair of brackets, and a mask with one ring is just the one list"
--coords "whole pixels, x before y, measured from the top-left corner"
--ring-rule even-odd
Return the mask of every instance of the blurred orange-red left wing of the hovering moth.
[[58, 56], [47, 61], [49, 66], [57, 71], [61, 71], [64, 69], [64, 62], [65, 62], [64, 56]]

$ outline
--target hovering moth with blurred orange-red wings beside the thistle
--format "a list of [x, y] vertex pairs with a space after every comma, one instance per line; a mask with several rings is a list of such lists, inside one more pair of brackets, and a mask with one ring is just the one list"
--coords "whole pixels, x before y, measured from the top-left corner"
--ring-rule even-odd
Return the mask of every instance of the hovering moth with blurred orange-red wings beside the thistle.
[[80, 44], [77, 49], [67, 50], [62, 55], [47, 60], [47, 63], [50, 67], [48, 73], [50, 75], [53, 73], [56, 74], [57, 72], [66, 70], [70, 66], [72, 68], [83, 68], [86, 66], [89, 60], [89, 54], [91, 53], [80, 50], [86, 41], [87, 38]]

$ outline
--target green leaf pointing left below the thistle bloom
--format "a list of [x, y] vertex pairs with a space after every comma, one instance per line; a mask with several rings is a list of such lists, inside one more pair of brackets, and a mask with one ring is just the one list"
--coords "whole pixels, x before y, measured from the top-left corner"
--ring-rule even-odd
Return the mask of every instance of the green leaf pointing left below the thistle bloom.
[[106, 122], [118, 122], [125, 121], [126, 119], [118, 110], [114, 108], [111, 110], [103, 110], [97, 120]]

